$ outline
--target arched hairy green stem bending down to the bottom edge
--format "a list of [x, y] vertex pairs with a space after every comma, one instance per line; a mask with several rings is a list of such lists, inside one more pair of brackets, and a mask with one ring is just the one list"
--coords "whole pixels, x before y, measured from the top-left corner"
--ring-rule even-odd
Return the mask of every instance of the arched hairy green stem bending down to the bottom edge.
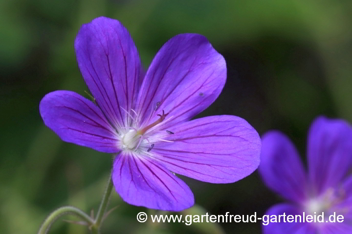
[[55, 222], [56, 219], [59, 217], [70, 214], [70, 215], [76, 215], [80, 218], [82, 218], [84, 221], [86, 221], [89, 225], [94, 224], [94, 220], [89, 217], [86, 213], [81, 211], [80, 209], [73, 207], [73, 206], [63, 206], [51, 213], [45, 220], [44, 223], [42, 224], [41, 228], [39, 229], [38, 234], [46, 234], [47, 231], [49, 230], [50, 226]]

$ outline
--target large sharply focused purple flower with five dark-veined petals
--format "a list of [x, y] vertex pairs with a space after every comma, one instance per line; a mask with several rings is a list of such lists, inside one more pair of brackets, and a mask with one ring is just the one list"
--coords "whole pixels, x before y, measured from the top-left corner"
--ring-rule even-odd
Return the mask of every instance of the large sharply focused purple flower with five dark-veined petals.
[[42, 99], [40, 113], [62, 140], [116, 154], [112, 181], [124, 201], [180, 211], [194, 197], [174, 173], [231, 183], [256, 170], [261, 141], [245, 120], [189, 121], [220, 95], [226, 81], [225, 60], [206, 38], [170, 39], [145, 76], [132, 38], [117, 20], [84, 24], [74, 46], [96, 104], [55, 91]]

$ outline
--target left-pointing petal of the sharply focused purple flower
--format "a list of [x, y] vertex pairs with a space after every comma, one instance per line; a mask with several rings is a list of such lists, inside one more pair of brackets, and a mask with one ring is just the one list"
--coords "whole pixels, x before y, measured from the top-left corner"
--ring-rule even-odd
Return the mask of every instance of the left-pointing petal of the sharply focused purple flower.
[[45, 95], [39, 105], [44, 124], [62, 140], [97, 151], [119, 151], [118, 135], [101, 110], [90, 100], [71, 91]]

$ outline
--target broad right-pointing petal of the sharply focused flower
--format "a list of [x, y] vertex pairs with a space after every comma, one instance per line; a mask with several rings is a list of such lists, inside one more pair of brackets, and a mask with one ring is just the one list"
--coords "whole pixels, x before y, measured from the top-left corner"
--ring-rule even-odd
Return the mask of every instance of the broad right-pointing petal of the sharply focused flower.
[[259, 165], [261, 141], [244, 119], [212, 116], [177, 124], [173, 142], [156, 143], [152, 156], [172, 172], [211, 183], [232, 183]]

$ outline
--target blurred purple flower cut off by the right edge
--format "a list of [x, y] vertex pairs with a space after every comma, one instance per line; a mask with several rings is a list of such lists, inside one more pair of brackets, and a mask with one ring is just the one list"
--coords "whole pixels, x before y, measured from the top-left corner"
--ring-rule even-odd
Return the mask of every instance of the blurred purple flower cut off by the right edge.
[[[262, 143], [259, 173], [270, 189], [289, 201], [274, 205], [266, 215], [294, 217], [292, 223], [283, 222], [283, 217], [280, 223], [266, 223], [263, 233], [352, 234], [352, 127], [340, 119], [313, 121], [308, 133], [308, 173], [284, 134], [270, 131]], [[329, 222], [334, 212], [336, 217], [343, 215], [344, 221]], [[313, 222], [303, 223], [303, 213], [312, 215]], [[301, 215], [301, 222], [299, 216], [296, 222], [295, 215]]]

